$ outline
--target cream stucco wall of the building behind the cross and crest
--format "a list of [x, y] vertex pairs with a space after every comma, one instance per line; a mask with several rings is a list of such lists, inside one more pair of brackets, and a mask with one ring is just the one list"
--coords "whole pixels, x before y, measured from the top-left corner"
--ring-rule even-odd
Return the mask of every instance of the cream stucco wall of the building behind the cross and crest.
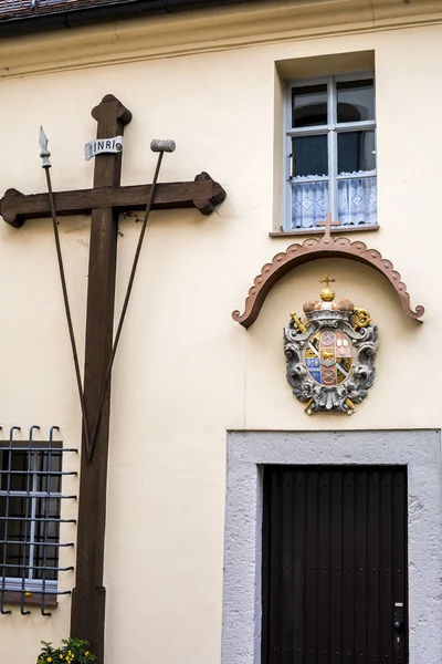
[[[271, 239], [275, 207], [275, 62], [373, 50], [379, 224], [354, 234], [392, 260], [424, 323], [408, 319], [380, 274], [345, 260], [304, 266], [269, 295], [249, 330], [231, 319], [264, 262], [291, 241]], [[440, 427], [442, 325], [438, 132], [442, 25], [293, 40], [0, 83], [1, 191], [44, 190], [38, 134], [44, 125], [55, 189], [88, 187], [83, 159], [91, 108], [106, 93], [126, 104], [124, 184], [150, 181], [152, 137], [171, 137], [162, 180], [208, 170], [228, 191], [209, 218], [155, 212], [113, 378], [108, 474], [107, 664], [220, 661], [225, 442], [228, 429]], [[139, 225], [122, 219], [117, 310]], [[88, 219], [61, 222], [75, 330], [83, 357]], [[308, 418], [285, 381], [282, 328], [317, 295], [325, 271], [339, 297], [367, 308], [380, 328], [377, 380], [352, 417]], [[0, 224], [1, 422], [60, 425], [80, 437], [80, 408], [50, 220]], [[42, 434], [42, 435], [43, 435]], [[77, 461], [74, 463], [74, 465]], [[71, 487], [76, 486], [72, 479]], [[93, 506], [91, 506], [93, 509]], [[71, 508], [74, 509], [74, 508]], [[74, 535], [66, 527], [67, 535]], [[69, 530], [72, 528], [72, 530]], [[74, 560], [66, 551], [64, 561]], [[72, 588], [72, 574], [62, 577]], [[33, 662], [41, 639], [67, 635], [70, 600], [51, 619], [34, 610], [0, 616], [0, 662]]]

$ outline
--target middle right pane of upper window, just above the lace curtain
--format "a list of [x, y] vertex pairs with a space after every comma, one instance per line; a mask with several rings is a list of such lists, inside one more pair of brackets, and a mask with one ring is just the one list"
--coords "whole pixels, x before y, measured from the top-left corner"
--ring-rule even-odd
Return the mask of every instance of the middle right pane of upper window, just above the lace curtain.
[[338, 174], [367, 173], [376, 168], [375, 131], [338, 134]]

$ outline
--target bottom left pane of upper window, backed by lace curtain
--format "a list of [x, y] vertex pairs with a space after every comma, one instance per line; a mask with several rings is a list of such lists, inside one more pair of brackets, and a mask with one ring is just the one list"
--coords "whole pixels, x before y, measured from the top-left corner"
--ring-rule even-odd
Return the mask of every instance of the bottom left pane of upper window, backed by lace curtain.
[[328, 183], [298, 181], [292, 186], [292, 228], [314, 228], [329, 210]]

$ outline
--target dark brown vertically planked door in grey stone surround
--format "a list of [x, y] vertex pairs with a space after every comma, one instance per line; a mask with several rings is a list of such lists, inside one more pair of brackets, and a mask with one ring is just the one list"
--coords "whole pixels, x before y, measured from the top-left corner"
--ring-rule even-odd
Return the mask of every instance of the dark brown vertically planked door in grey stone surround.
[[407, 468], [266, 466], [262, 664], [408, 664]]

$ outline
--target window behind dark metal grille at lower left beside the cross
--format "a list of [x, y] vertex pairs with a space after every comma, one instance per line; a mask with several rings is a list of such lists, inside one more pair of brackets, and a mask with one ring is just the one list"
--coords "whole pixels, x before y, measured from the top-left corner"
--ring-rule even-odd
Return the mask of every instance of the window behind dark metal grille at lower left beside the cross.
[[[0, 427], [1, 429], [1, 427]], [[71, 591], [57, 589], [59, 572], [74, 568], [59, 564], [60, 549], [73, 547], [73, 542], [60, 541], [60, 525], [75, 523], [76, 519], [61, 518], [62, 499], [76, 499], [75, 495], [62, 494], [61, 481], [64, 475], [77, 475], [76, 471], [62, 470], [63, 455], [77, 453], [76, 448], [63, 448], [54, 442], [59, 427], [50, 429], [49, 443], [34, 443], [33, 434], [40, 427], [30, 428], [29, 439], [14, 439], [10, 429], [9, 443], [0, 442], [2, 459], [0, 468], [0, 613], [4, 610], [6, 592], [20, 592], [20, 612], [25, 611], [25, 596], [40, 593], [41, 613], [45, 611], [45, 598], [49, 595], [71, 594]], [[19, 469], [17, 469], [19, 468]], [[17, 490], [19, 489], [19, 490]]]

